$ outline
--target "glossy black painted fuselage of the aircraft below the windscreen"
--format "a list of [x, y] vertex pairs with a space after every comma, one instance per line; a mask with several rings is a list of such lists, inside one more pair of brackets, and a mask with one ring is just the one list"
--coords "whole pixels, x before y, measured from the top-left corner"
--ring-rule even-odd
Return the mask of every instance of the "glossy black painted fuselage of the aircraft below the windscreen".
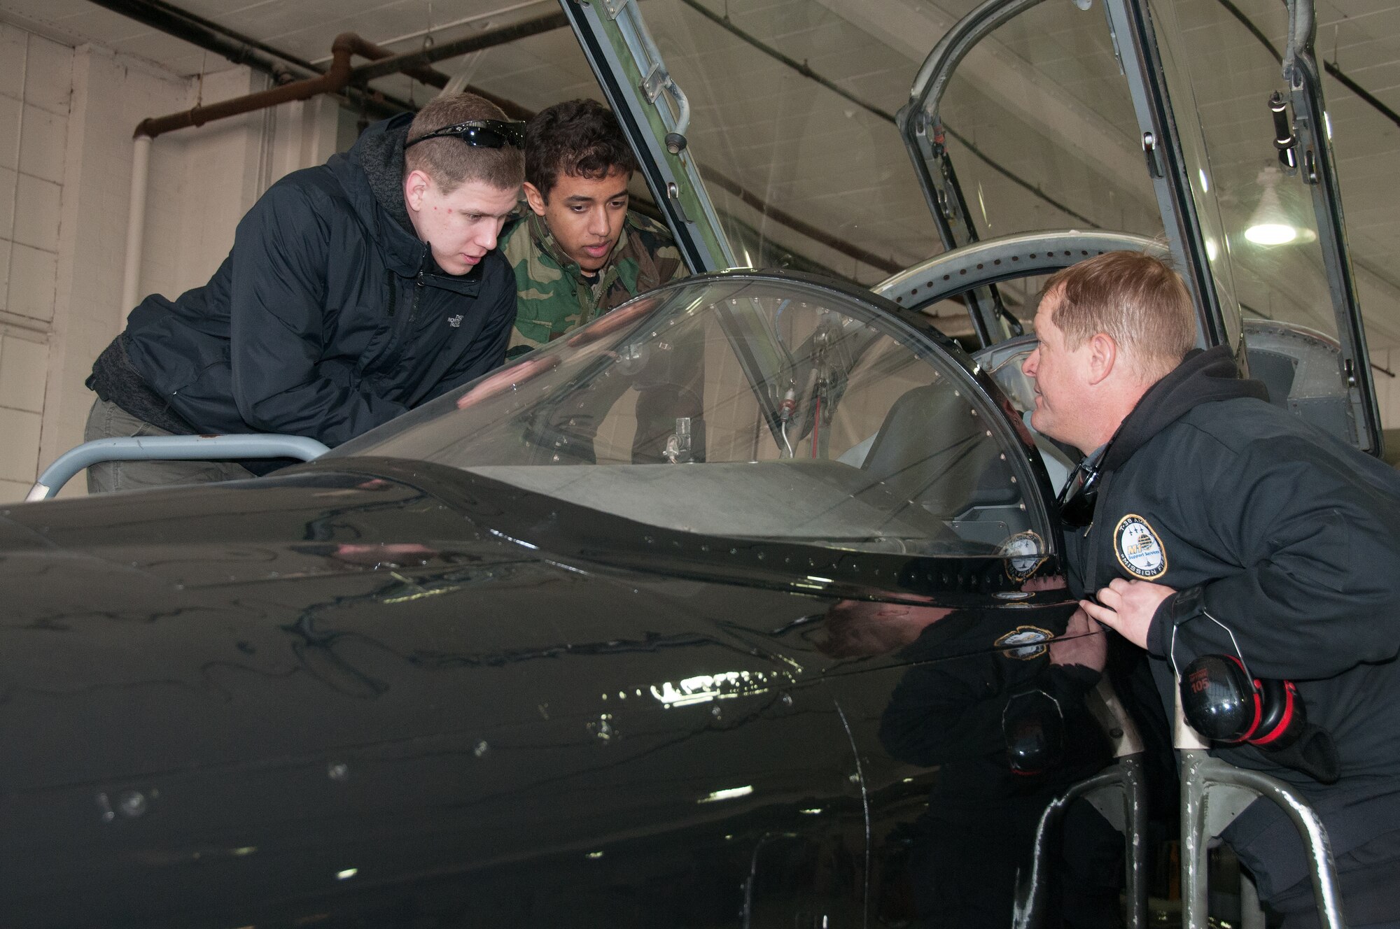
[[[1014, 844], [1079, 772], [938, 774], [1063, 590], [679, 536], [388, 459], [4, 511], [4, 923], [910, 925], [928, 810]], [[955, 611], [840, 658], [843, 603]], [[900, 701], [969, 725], [892, 751]]]

